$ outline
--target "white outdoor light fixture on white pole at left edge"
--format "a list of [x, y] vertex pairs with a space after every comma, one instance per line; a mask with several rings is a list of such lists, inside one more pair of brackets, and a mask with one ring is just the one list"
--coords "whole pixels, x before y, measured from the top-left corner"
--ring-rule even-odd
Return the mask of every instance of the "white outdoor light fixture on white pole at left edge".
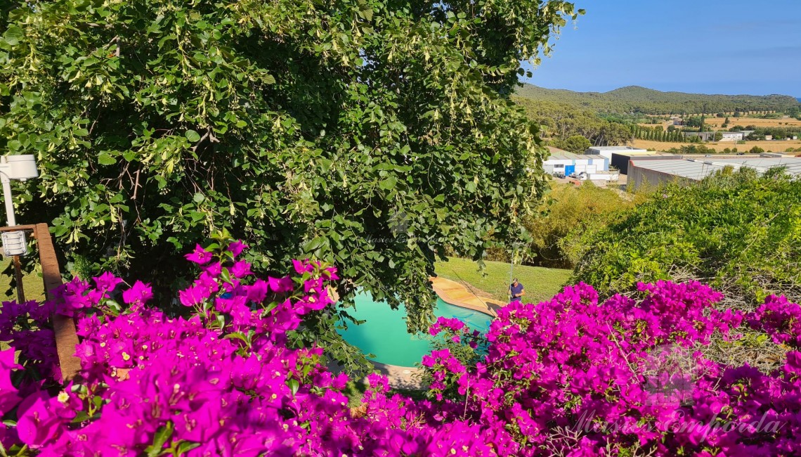
[[[11, 200], [11, 180], [25, 181], [38, 176], [39, 172], [36, 169], [34, 156], [0, 156], [0, 182], [2, 182], [3, 200], [6, 201], [6, 217], [10, 227], [17, 224], [17, 219], [14, 217], [14, 203]], [[22, 230], [3, 232], [2, 247], [6, 256], [24, 256], [28, 253], [25, 232]]]

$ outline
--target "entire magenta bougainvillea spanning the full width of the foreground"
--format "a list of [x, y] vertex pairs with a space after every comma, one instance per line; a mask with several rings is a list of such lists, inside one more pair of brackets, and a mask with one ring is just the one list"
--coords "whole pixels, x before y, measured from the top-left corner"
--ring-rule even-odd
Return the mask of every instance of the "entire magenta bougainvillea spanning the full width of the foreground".
[[[441, 318], [422, 360], [429, 399], [368, 376], [358, 410], [344, 374], [287, 333], [331, 305], [336, 270], [295, 261], [255, 278], [239, 242], [187, 254], [197, 279], [169, 317], [142, 282], [106, 273], [53, 301], [3, 303], [0, 455], [794, 455], [801, 449], [799, 305], [720, 311], [699, 283], [639, 286], [599, 303], [575, 285], [501, 309], [485, 341]], [[62, 382], [48, 328], [72, 316], [82, 370]], [[749, 326], [787, 349], [771, 373], [697, 350]], [[464, 354], [478, 348], [483, 357]], [[15, 356], [15, 351], [18, 354]], [[459, 357], [457, 357], [457, 355]]]

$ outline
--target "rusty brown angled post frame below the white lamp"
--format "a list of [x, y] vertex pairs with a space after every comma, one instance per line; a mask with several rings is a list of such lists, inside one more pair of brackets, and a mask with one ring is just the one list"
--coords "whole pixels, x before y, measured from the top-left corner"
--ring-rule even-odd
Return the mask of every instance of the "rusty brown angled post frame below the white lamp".
[[[50, 237], [50, 228], [47, 224], [34, 225], [14, 225], [13, 227], [0, 227], [0, 232], [14, 232], [22, 230], [30, 232], [36, 240], [39, 251], [39, 263], [42, 265], [42, 281], [44, 282], [45, 294], [48, 300], [53, 300], [53, 291], [62, 285], [61, 270], [58, 269], [58, 258], [55, 255], [55, 246]], [[19, 273], [19, 259], [14, 259], [18, 297], [24, 300], [25, 292], [22, 287], [22, 275]], [[55, 334], [55, 346], [58, 352], [58, 364], [61, 366], [61, 374], [64, 382], [70, 381], [81, 370], [81, 361], [75, 357], [75, 347], [78, 346], [78, 335], [75, 334], [75, 322], [72, 317], [62, 316], [53, 313], [50, 317], [53, 322], [53, 332]]]

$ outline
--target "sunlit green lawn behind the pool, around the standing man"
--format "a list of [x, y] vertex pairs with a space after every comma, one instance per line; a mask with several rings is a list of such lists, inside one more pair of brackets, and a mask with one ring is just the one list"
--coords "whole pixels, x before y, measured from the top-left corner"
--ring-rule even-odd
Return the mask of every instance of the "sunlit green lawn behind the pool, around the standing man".
[[[509, 264], [487, 261], [485, 265], [485, 275], [482, 275], [476, 262], [449, 257], [447, 262], [437, 262], [434, 269], [441, 277], [472, 285], [473, 293], [505, 301], [509, 289]], [[570, 277], [570, 270], [514, 265], [514, 276], [525, 287], [524, 301], [537, 303], [560, 292]]]

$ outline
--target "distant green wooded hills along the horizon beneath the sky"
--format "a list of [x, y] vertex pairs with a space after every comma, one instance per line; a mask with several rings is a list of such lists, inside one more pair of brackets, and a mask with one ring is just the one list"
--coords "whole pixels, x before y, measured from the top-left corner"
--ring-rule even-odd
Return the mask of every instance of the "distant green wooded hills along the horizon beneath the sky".
[[786, 111], [799, 107], [801, 99], [790, 95], [706, 95], [662, 92], [647, 87], [627, 86], [608, 92], [576, 92], [545, 89], [532, 84], [519, 88], [525, 99], [566, 103], [600, 112], [641, 112], [646, 114], [697, 114], [733, 111]]

